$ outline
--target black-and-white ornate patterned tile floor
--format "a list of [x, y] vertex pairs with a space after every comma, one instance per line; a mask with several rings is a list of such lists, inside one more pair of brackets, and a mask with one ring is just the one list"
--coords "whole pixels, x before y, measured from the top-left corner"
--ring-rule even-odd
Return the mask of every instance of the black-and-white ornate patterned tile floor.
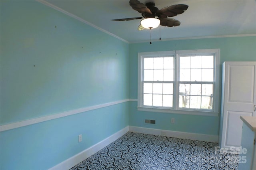
[[218, 143], [128, 132], [70, 170], [237, 170]]

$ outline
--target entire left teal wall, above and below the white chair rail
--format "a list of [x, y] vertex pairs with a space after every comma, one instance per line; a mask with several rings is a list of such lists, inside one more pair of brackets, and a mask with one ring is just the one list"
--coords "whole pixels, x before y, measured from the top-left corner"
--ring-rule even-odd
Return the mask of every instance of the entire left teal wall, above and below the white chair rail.
[[[37, 1], [0, 3], [1, 125], [128, 99], [128, 43]], [[3, 131], [0, 169], [51, 168], [128, 126], [128, 110]]]

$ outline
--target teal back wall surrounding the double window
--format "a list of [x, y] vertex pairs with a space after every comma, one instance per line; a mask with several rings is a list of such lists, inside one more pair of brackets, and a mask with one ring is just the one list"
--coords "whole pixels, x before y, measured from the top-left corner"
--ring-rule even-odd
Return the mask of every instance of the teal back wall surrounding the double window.
[[[171, 28], [170, 28], [171, 29]], [[224, 61], [256, 61], [256, 37], [207, 38], [194, 40], [175, 40], [149, 43], [133, 43], [130, 50], [130, 99], [137, 99], [138, 53], [149, 51], [172, 51], [186, 49], [220, 49], [220, 64]], [[222, 70], [218, 75], [221, 82]], [[221, 97], [221, 84], [220, 84]], [[219, 101], [221, 98], [219, 98]], [[178, 115], [137, 111], [137, 102], [130, 102], [129, 125], [163, 130], [174, 130], [200, 134], [218, 135], [220, 117]], [[220, 109], [220, 108], [219, 108]], [[220, 110], [219, 110], [220, 112]], [[175, 123], [171, 124], [171, 118]], [[147, 125], [144, 119], [156, 120], [156, 125]]]

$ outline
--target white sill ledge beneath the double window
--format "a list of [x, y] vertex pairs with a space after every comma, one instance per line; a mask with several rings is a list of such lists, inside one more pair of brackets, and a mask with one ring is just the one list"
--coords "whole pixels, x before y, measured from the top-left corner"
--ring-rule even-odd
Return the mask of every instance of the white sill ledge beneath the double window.
[[210, 111], [193, 111], [193, 110], [176, 110], [176, 109], [162, 109], [162, 108], [150, 108], [150, 107], [137, 107], [138, 111], [148, 112], [160, 112], [160, 113], [174, 113], [184, 115], [200, 115], [200, 116], [219, 116], [218, 112]]

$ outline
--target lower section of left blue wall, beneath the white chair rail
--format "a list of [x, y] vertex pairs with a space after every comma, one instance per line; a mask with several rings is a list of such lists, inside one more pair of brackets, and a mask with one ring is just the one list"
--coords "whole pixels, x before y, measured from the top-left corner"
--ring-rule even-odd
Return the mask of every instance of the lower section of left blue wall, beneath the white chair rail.
[[0, 168], [46, 170], [126, 126], [128, 102], [2, 131]]

